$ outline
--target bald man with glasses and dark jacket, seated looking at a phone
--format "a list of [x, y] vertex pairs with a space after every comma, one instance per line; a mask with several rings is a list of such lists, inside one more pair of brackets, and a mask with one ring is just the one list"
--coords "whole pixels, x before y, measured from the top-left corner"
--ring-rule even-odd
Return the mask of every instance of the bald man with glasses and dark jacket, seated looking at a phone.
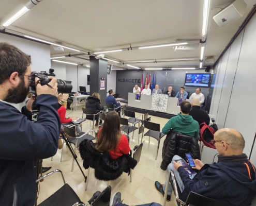
[[[171, 170], [182, 192], [180, 199], [186, 201], [192, 191], [225, 205], [251, 205], [256, 193], [256, 173], [255, 167], [243, 153], [243, 135], [235, 129], [219, 129], [214, 134], [213, 143], [219, 153], [218, 163], [203, 164], [200, 160], [194, 160], [195, 167], [192, 168], [199, 170], [196, 175], [189, 176], [182, 164], [171, 163]], [[173, 159], [176, 158], [180, 157]], [[171, 191], [168, 190], [168, 195], [171, 195]]]

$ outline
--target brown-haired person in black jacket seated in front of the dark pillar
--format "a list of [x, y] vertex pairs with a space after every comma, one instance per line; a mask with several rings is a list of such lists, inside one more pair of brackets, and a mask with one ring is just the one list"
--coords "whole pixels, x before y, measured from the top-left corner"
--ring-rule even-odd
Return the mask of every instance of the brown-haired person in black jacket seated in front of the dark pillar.
[[[92, 109], [93, 113], [97, 114], [99, 111], [104, 109], [104, 106], [100, 105], [100, 103], [100, 94], [95, 92], [92, 96], [87, 97], [87, 100], [85, 102], [86, 109]], [[93, 119], [93, 115], [86, 115], [86, 119]], [[99, 123], [99, 115], [95, 116], [95, 120], [95, 127], [97, 127]]]

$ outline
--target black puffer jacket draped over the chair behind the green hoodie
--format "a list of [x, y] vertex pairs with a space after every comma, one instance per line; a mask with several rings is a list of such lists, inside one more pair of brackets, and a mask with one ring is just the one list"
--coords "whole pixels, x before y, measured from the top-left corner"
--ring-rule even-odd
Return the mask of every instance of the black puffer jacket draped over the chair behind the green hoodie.
[[193, 159], [201, 160], [197, 139], [193, 136], [170, 130], [163, 142], [161, 169], [167, 169], [174, 155], [178, 155], [186, 160], [185, 153], [191, 153]]

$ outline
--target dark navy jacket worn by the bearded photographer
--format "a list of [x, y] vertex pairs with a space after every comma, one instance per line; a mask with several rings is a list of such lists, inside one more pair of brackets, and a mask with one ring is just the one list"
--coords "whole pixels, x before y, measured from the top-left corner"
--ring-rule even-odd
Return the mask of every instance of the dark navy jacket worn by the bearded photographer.
[[34, 162], [54, 156], [58, 149], [61, 121], [57, 97], [41, 94], [36, 106], [40, 111], [34, 123], [18, 109], [0, 101], [0, 205], [33, 206]]

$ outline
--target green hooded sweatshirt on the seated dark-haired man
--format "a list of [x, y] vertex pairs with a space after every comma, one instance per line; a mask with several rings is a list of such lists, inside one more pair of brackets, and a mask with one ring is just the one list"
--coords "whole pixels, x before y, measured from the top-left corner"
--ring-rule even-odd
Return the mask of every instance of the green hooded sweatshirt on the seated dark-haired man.
[[170, 130], [194, 136], [195, 138], [199, 137], [199, 124], [190, 115], [178, 114], [170, 118], [162, 128], [162, 133], [168, 134]]

